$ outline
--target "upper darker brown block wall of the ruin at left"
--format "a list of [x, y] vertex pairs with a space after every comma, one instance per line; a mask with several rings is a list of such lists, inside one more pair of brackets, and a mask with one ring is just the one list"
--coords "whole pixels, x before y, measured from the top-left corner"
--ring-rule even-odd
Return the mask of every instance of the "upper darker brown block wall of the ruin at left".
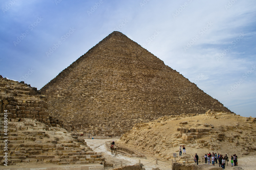
[[17, 85], [14, 83], [9, 85], [4, 83], [6, 79], [1, 79], [0, 113], [2, 115], [3, 110], [8, 110], [11, 113], [8, 114], [8, 118], [12, 121], [19, 120], [16, 118], [35, 118], [49, 127], [57, 125], [62, 127], [63, 120], [49, 116], [46, 98], [41, 96], [36, 88], [18, 82], [16, 82]]

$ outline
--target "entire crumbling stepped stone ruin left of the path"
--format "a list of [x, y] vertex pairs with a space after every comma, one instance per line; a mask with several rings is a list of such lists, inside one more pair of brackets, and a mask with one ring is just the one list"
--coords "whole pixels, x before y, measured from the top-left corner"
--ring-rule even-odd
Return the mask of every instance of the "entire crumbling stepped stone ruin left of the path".
[[[0, 163], [8, 153], [8, 165], [32, 163], [88, 164], [104, 161], [76, 134], [61, 128], [63, 120], [49, 116], [45, 96], [30, 85], [0, 75]], [[7, 110], [7, 132], [4, 131]], [[6, 133], [6, 134], [5, 134]], [[8, 138], [5, 138], [8, 137]], [[4, 140], [8, 139], [7, 151]]]

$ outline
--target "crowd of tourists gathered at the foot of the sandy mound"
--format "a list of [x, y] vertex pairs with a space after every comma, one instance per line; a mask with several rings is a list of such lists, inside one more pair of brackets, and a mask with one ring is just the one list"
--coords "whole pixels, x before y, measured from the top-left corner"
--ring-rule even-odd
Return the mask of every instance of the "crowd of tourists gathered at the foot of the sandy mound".
[[[198, 157], [198, 156], [197, 156]], [[222, 167], [222, 169], [225, 169], [225, 165], [227, 164], [228, 166], [228, 162], [229, 162], [229, 158], [227, 156], [227, 154], [225, 156], [221, 155], [218, 153], [214, 153], [212, 152], [212, 154], [209, 152], [208, 154], [205, 154], [205, 164], [210, 165], [210, 163], [212, 163], [213, 166], [215, 166], [215, 162], [217, 162], [217, 160], [219, 161], [219, 167]], [[196, 158], [196, 156], [195, 156]], [[230, 163], [231, 166], [237, 166], [237, 155], [231, 155], [230, 156]], [[198, 162], [197, 162], [198, 165]]]

